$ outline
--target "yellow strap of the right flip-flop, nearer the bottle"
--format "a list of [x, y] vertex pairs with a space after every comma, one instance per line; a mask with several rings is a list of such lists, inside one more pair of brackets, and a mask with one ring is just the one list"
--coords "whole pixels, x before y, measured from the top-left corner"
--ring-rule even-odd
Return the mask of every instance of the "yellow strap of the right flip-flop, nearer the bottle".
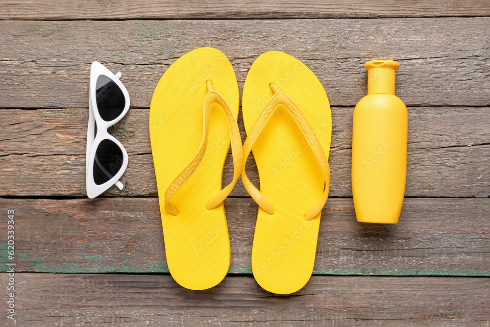
[[[321, 171], [323, 172], [323, 176], [325, 178], [325, 189], [319, 198], [318, 201], [316, 201], [313, 206], [308, 210], [308, 212], [305, 214], [305, 220], [310, 221], [313, 218], [315, 218], [325, 205], [327, 198], [328, 198], [328, 189], [330, 186], [330, 168], [328, 166], [328, 159], [325, 155], [325, 152], [321, 148], [321, 145], [315, 136], [315, 133], [313, 132], [313, 129], [311, 126], [308, 124], [308, 121], [304, 117], [303, 113], [301, 110], [298, 108], [298, 106], [294, 103], [294, 101], [288, 97], [285, 93], [282, 93], [278, 90], [277, 86], [275, 84], [270, 84], [270, 89], [274, 92], [274, 95], [272, 98], [270, 98], [269, 102], [266, 104], [262, 112], [260, 113], [259, 117], [254, 123], [254, 126], [250, 130], [250, 133], [248, 133], [248, 136], [245, 140], [245, 144], [243, 147], [243, 153], [244, 153], [244, 158], [245, 161], [248, 158], [248, 155], [250, 154], [250, 151], [252, 150], [252, 147], [257, 141], [260, 133], [266, 126], [267, 122], [269, 121], [270, 117], [272, 116], [272, 113], [275, 111], [275, 109], [279, 105], [283, 105], [286, 107], [286, 109], [289, 111], [289, 113], [293, 116], [294, 121], [298, 125], [299, 129], [303, 133], [306, 141], [310, 145], [313, 153], [315, 154], [315, 157], [318, 160], [318, 163], [320, 165]], [[250, 182], [248, 177], [245, 174], [245, 169], [243, 170], [242, 173], [242, 181], [244, 183], [245, 189], [247, 190], [248, 194], [253, 198], [255, 202], [268, 214], [273, 215], [274, 214], [274, 208], [272, 204], [270, 203], [269, 200]]]

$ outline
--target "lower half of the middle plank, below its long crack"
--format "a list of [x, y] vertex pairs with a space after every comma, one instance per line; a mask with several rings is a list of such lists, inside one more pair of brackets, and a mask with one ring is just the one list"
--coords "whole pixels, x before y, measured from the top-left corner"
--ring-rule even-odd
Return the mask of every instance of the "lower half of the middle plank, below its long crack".
[[[410, 150], [408, 152], [406, 197], [490, 196], [490, 145]], [[223, 184], [233, 177], [231, 155], [225, 163]], [[351, 150], [330, 151], [330, 196], [350, 197]], [[85, 190], [85, 155], [1, 157], [1, 196], [82, 196]], [[259, 184], [255, 161], [246, 162], [247, 175]], [[157, 187], [151, 154], [129, 156], [129, 165], [121, 181], [123, 191], [111, 187], [103, 196], [156, 196]], [[248, 196], [239, 180], [231, 196]]]

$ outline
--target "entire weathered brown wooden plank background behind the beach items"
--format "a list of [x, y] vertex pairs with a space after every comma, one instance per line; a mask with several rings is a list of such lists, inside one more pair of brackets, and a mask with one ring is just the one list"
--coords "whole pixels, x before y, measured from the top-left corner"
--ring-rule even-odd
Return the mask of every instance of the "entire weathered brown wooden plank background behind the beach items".
[[[2, 326], [489, 326], [488, 0], [1, 0], [0, 35]], [[148, 111], [165, 70], [203, 46], [228, 56], [240, 91], [254, 59], [281, 50], [307, 64], [329, 97], [330, 198], [314, 276], [290, 296], [251, 275], [257, 205], [241, 181], [225, 201], [228, 276], [190, 291], [168, 273]], [[357, 223], [350, 187], [363, 65], [382, 58], [400, 62], [396, 93], [409, 111], [397, 225]], [[129, 154], [125, 188], [89, 200], [94, 60], [122, 72], [131, 109], [111, 130]], [[258, 179], [253, 157], [247, 173]], [[6, 318], [9, 209], [15, 322]]]

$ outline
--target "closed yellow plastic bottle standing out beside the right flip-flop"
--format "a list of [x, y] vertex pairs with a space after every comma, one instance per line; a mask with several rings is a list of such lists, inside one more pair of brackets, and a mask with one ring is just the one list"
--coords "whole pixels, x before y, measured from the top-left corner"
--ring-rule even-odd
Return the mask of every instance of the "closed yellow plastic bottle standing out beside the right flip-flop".
[[395, 96], [393, 60], [372, 60], [368, 95], [354, 109], [352, 194], [357, 221], [396, 224], [407, 176], [407, 107]]

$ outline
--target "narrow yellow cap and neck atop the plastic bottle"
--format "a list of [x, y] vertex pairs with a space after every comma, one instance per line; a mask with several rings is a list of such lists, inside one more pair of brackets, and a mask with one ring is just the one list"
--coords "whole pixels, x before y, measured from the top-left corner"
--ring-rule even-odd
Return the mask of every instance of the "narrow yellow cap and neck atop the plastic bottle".
[[364, 67], [368, 70], [368, 94], [395, 94], [395, 71], [400, 64], [393, 60], [371, 60]]

